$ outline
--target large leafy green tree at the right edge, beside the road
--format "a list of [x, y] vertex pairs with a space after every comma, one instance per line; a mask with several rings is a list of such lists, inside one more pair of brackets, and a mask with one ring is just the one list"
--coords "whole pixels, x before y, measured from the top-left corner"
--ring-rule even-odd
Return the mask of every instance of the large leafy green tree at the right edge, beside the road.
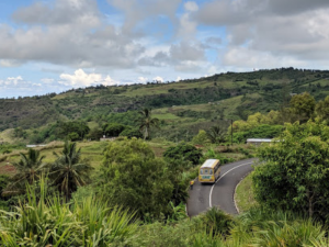
[[259, 150], [265, 164], [252, 176], [257, 201], [270, 209], [327, 217], [328, 139], [329, 127], [322, 123], [287, 124], [276, 143]]

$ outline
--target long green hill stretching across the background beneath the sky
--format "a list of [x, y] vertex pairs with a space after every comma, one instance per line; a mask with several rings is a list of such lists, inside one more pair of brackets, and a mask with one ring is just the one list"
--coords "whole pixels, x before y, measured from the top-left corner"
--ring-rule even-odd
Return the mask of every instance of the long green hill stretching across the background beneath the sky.
[[[59, 120], [83, 120], [95, 126], [111, 113], [122, 113], [122, 119], [134, 123], [127, 112], [146, 106], [154, 109], [164, 130], [166, 125], [192, 124], [197, 128], [198, 123], [238, 120], [253, 112], [277, 110], [290, 100], [290, 93], [304, 91], [316, 100], [328, 96], [329, 71], [281, 68], [168, 83], [97, 86], [60, 94], [0, 99], [0, 131], [18, 126], [39, 128]], [[116, 117], [112, 116], [112, 122]]]

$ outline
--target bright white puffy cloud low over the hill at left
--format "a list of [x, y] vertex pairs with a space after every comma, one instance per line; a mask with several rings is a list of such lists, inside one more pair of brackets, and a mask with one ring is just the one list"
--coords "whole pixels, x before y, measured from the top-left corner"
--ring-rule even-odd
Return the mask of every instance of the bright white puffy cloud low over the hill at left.
[[110, 76], [103, 77], [103, 75], [94, 72], [87, 74], [83, 69], [76, 70], [73, 75], [61, 74], [60, 79], [59, 83], [73, 88], [90, 87], [93, 85], [113, 86], [118, 83]]

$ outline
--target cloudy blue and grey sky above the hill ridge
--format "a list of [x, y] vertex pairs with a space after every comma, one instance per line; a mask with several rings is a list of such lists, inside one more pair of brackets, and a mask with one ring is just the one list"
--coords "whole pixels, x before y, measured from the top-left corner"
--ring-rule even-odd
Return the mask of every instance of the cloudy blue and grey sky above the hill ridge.
[[328, 0], [1, 0], [0, 98], [328, 69]]

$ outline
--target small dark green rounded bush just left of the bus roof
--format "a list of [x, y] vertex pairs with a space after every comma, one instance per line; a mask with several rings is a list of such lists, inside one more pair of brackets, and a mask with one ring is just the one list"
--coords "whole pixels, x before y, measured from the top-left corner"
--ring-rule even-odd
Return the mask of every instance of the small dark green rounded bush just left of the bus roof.
[[166, 159], [188, 160], [198, 165], [202, 151], [191, 144], [180, 143], [177, 146], [168, 147], [163, 153]]

